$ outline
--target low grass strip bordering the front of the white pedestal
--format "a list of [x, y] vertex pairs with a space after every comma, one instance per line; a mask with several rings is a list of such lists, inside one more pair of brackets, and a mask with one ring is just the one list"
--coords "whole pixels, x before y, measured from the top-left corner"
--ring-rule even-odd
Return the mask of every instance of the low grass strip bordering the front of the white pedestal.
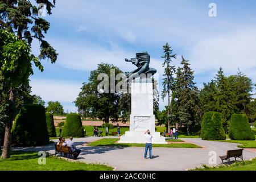
[[[88, 146], [145, 147], [145, 144], [142, 143], [116, 143], [117, 141], [117, 138], [104, 138], [89, 143]], [[152, 144], [152, 147], [201, 148], [192, 143]]]

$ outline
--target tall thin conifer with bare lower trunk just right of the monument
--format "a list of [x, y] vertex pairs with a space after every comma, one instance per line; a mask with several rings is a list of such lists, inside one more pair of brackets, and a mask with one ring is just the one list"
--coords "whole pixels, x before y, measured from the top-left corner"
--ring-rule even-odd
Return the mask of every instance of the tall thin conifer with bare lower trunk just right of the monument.
[[162, 99], [167, 96], [168, 105], [167, 105], [167, 115], [168, 115], [168, 123], [167, 123], [167, 131], [170, 131], [170, 115], [171, 115], [171, 107], [170, 107], [170, 100], [171, 100], [171, 92], [174, 90], [174, 82], [175, 82], [175, 66], [171, 65], [172, 59], [176, 59], [176, 54], [172, 54], [173, 49], [169, 46], [168, 43], [163, 46], [164, 59], [163, 67], [164, 67], [164, 78], [163, 78], [163, 92], [162, 92]]

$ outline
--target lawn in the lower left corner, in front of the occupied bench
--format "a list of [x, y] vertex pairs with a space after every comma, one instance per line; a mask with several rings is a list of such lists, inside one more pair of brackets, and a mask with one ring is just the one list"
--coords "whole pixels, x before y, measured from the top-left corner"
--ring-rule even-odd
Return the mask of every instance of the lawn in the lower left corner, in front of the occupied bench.
[[9, 159], [0, 159], [1, 171], [112, 171], [113, 167], [104, 164], [68, 162], [67, 160], [47, 156], [46, 164], [38, 163], [37, 152], [12, 151]]

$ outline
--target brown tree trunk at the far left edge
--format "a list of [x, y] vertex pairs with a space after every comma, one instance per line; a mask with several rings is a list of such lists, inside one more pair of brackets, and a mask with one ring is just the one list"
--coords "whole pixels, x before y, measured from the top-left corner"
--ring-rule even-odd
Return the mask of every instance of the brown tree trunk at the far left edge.
[[[14, 88], [10, 89], [9, 100], [15, 103], [16, 100], [16, 90]], [[13, 127], [13, 119], [5, 125], [5, 138], [3, 140], [3, 152], [2, 152], [2, 159], [10, 158], [10, 151], [11, 151], [11, 128]]]

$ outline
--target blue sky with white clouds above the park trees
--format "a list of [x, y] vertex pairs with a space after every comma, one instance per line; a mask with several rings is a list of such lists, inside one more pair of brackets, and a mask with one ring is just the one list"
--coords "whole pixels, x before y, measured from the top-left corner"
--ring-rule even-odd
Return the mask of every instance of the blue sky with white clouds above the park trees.
[[[216, 3], [217, 17], [210, 17], [209, 3]], [[125, 58], [136, 52], [151, 55], [151, 67], [162, 79], [162, 46], [168, 42], [190, 60], [201, 88], [220, 67], [226, 75], [238, 68], [256, 82], [256, 1], [68, 1], [56, 2], [46, 39], [59, 53], [55, 64], [44, 60], [44, 72], [30, 77], [32, 92], [44, 101], [60, 101], [64, 110], [76, 111], [72, 103], [82, 82], [97, 64], [111, 63], [123, 71], [134, 65]], [[38, 42], [33, 42], [38, 54]], [[161, 83], [160, 83], [161, 84]], [[162, 86], [160, 85], [160, 89]], [[160, 101], [160, 109], [166, 100]]]

